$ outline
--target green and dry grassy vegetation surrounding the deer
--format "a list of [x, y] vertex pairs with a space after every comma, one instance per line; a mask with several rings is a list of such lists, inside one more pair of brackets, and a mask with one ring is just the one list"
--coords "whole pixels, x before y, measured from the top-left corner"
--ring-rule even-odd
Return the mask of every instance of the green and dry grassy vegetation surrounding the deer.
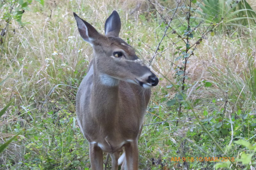
[[104, 33], [114, 9], [160, 79], [139, 168], [256, 167], [253, 0], [38, 2], [0, 2], [0, 169], [90, 169], [75, 96], [92, 48], [72, 12]]

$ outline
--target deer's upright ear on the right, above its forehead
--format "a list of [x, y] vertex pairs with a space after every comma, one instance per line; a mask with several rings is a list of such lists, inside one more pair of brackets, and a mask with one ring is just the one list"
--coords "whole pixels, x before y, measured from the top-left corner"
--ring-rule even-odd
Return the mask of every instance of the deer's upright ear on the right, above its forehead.
[[121, 29], [121, 20], [116, 11], [108, 17], [105, 23], [105, 35], [118, 37]]

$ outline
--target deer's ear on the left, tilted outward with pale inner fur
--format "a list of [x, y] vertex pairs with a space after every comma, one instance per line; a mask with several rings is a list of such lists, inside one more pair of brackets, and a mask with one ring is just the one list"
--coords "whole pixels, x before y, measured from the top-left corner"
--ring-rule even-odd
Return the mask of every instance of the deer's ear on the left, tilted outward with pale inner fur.
[[93, 41], [100, 36], [100, 33], [91, 24], [78, 17], [75, 12], [73, 14], [81, 37], [84, 41], [93, 44]]

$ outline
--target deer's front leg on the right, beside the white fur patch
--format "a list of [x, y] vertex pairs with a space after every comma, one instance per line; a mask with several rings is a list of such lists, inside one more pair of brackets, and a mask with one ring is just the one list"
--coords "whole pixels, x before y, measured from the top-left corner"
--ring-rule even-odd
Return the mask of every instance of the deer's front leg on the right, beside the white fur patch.
[[138, 141], [133, 141], [124, 145], [125, 159], [122, 170], [138, 170], [139, 148]]

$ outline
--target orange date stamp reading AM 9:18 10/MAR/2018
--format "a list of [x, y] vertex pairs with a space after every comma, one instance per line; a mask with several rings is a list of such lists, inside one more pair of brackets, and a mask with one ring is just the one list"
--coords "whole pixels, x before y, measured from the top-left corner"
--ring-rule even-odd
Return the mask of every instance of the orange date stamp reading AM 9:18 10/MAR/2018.
[[172, 157], [171, 161], [173, 162], [227, 162], [227, 161], [235, 161], [235, 157]]

